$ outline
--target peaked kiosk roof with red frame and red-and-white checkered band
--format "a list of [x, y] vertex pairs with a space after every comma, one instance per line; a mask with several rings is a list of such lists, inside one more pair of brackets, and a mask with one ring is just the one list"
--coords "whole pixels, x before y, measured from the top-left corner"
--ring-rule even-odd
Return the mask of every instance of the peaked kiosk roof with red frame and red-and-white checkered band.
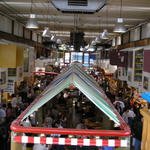
[[[50, 101], [65, 88], [68, 88], [70, 85], [74, 85], [76, 88], [78, 88], [91, 102], [93, 102], [102, 112], [104, 112], [111, 120], [113, 120], [115, 124], [120, 126], [121, 130], [58, 129], [21, 126], [21, 123], [24, 119], [30, 116], [34, 111], [38, 110], [38, 108], [43, 106], [45, 103]], [[17, 135], [19, 133], [43, 133], [100, 137], [105, 136], [105, 138], [108, 137], [107, 140], [45, 137], [44, 144], [129, 147], [130, 129], [128, 125], [121, 118], [103, 90], [97, 85], [94, 78], [88, 75], [78, 63], [73, 63], [69, 68], [67, 68], [67, 70], [59, 74], [50, 83], [50, 85], [48, 85], [46, 89], [38, 97], [36, 97], [36, 99], [26, 108], [26, 110], [12, 122], [11, 130], [13, 133], [15, 133], [13, 134], [15, 136], [12, 136], [12, 140], [16, 143], [34, 143], [35, 138], [40, 138], [34, 136], [29, 137]], [[123, 139], [109, 139], [110, 136], [114, 138], [120, 137]], [[41, 143], [41, 139], [39, 139], [38, 143]]]

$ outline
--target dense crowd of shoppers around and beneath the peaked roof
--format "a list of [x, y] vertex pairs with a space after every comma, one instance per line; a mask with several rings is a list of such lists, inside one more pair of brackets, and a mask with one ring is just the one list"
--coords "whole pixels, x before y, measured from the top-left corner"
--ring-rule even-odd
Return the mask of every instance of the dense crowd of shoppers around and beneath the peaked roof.
[[[60, 72], [60, 69], [55, 68], [56, 72]], [[132, 131], [132, 145], [134, 146], [134, 150], [140, 150], [141, 145], [141, 137], [142, 137], [142, 116], [140, 115], [139, 108], [135, 107], [133, 103], [131, 103], [130, 98], [124, 95], [123, 92], [118, 91], [118, 95], [111, 95], [109, 92], [109, 83], [108, 80], [103, 76], [101, 78], [102, 70], [92, 70], [89, 72], [98, 82], [98, 84], [103, 88], [106, 92], [106, 95], [110, 98], [114, 107], [118, 110], [124, 121], [130, 126]], [[103, 74], [103, 73], [102, 73]], [[4, 103], [0, 105], [0, 147], [2, 150], [10, 150], [10, 124], [16, 119], [16, 117], [25, 110], [29, 106], [29, 104], [35, 99], [37, 95], [40, 94], [42, 90], [52, 81], [54, 76], [45, 75], [45, 76], [36, 76], [35, 82], [33, 86], [28, 85], [27, 82], [23, 81], [20, 83], [19, 87], [16, 89], [16, 94], [11, 95], [11, 102]], [[91, 104], [88, 104], [86, 101], [86, 97], [78, 90], [75, 91], [75, 94], [71, 94], [71, 92], [65, 90], [54, 97], [54, 100], [57, 101], [52, 105], [48, 106], [48, 110], [46, 109], [46, 115], [44, 116], [44, 121], [42, 127], [48, 128], [76, 128], [76, 129], [93, 129], [91, 126], [88, 126], [85, 120], [87, 118], [92, 118], [94, 121], [97, 121], [96, 112], [94, 110], [95, 107]], [[75, 100], [73, 103], [70, 101]], [[84, 104], [83, 104], [83, 103]], [[74, 124], [73, 120], [70, 119], [72, 117], [72, 105], [75, 105], [75, 111], [77, 114], [80, 114], [78, 120]], [[81, 109], [86, 104], [86, 109]], [[60, 106], [68, 107], [68, 111], [60, 111]], [[88, 106], [88, 107], [87, 107]], [[70, 108], [70, 109], [69, 109]], [[83, 107], [85, 108], [85, 107]], [[35, 120], [30, 119], [29, 124], [23, 124], [23, 126], [37, 126]], [[99, 121], [102, 121], [102, 118], [99, 117]], [[63, 135], [59, 134], [51, 134], [52, 137], [63, 137]], [[78, 137], [77, 137], [78, 138]], [[65, 146], [57, 146], [57, 145], [44, 145], [44, 144], [35, 144], [31, 145], [33, 150], [67, 150], [67, 149], [85, 149], [88, 150], [91, 147], [65, 147]], [[103, 147], [93, 147], [93, 150], [98, 149], [114, 149]]]

